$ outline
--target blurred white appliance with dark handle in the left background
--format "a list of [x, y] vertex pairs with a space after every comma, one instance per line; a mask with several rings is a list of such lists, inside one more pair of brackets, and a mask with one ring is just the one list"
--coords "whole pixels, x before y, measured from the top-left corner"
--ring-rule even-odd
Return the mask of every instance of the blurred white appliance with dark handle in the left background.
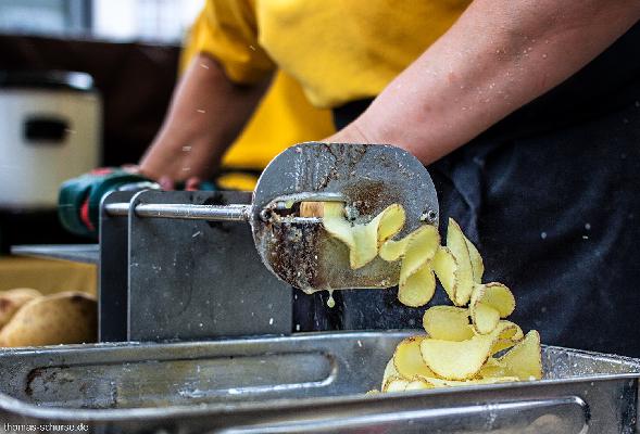
[[101, 135], [89, 75], [0, 72], [0, 209], [54, 208], [64, 180], [100, 165]]

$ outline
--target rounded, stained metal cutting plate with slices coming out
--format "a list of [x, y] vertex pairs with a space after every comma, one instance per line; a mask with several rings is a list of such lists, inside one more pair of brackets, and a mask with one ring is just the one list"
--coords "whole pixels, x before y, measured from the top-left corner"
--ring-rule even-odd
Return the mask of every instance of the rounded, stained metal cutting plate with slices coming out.
[[310, 201], [343, 202], [354, 224], [368, 222], [387, 206], [400, 204], [406, 222], [396, 239], [424, 222], [438, 226], [434, 182], [406, 151], [380, 144], [291, 146], [262, 174], [250, 219], [266, 267], [305, 292], [389, 288], [398, 284], [400, 273], [400, 261], [379, 257], [352, 270], [348, 247], [325, 231], [322, 219], [287, 214], [296, 209], [296, 203]]

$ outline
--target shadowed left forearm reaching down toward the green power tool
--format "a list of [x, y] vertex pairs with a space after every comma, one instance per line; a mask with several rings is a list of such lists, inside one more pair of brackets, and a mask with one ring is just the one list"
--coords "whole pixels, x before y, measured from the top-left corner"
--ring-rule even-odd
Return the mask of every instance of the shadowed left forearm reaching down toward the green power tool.
[[236, 85], [215, 60], [196, 55], [174, 91], [160, 132], [140, 161], [140, 171], [168, 189], [176, 181], [209, 178], [266, 87], [267, 80]]

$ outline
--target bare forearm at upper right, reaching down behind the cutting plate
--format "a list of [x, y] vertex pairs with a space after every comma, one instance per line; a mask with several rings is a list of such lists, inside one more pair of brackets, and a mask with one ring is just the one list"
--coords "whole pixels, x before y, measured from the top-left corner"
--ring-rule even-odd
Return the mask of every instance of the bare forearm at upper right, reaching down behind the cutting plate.
[[327, 141], [396, 144], [429, 164], [575, 74], [639, 18], [638, 0], [475, 0]]

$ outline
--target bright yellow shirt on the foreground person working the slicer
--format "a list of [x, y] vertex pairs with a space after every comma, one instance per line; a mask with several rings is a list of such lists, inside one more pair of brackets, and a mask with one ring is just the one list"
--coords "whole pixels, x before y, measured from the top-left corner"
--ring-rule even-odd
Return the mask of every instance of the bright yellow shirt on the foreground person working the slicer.
[[316, 107], [377, 95], [453, 24], [470, 0], [209, 0], [199, 51], [230, 79], [275, 65]]

